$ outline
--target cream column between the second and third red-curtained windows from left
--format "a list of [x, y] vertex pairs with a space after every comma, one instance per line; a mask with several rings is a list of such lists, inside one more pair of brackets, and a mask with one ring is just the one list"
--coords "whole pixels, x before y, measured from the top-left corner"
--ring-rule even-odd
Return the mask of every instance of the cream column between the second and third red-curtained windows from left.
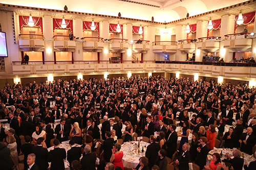
[[[82, 19], [75, 18], [74, 19], [74, 36], [82, 38]], [[74, 52], [74, 61], [82, 61], [83, 60], [83, 45], [82, 42], [76, 42], [76, 49]], [[79, 62], [74, 62], [74, 64], [78, 64]]]

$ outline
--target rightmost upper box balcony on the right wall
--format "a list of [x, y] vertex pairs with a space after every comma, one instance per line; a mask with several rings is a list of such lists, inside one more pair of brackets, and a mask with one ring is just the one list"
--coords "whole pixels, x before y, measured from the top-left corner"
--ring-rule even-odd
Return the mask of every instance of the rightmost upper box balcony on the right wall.
[[227, 34], [225, 35], [224, 48], [232, 52], [251, 51], [252, 39], [246, 38], [250, 33]]

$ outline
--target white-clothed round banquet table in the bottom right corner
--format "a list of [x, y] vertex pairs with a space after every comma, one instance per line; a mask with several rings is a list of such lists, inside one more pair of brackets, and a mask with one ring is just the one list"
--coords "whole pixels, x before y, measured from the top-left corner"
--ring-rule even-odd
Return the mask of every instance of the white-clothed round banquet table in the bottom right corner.
[[[232, 155], [232, 152], [233, 152], [234, 149], [228, 149], [228, 148], [214, 148], [213, 150], [209, 151], [208, 155], [207, 155], [207, 161], [206, 161], [206, 165], [209, 165], [210, 161], [212, 160], [212, 154], [214, 153], [221, 153], [222, 151], [222, 157], [221, 157], [221, 160], [223, 159], [226, 159], [227, 157], [225, 156], [225, 154], [229, 154], [229, 156], [231, 157], [231, 159], [233, 159], [233, 155]], [[243, 153], [243, 152], [242, 152]], [[246, 153], [243, 153], [244, 154], [244, 165], [249, 165], [249, 163], [251, 161], [255, 161], [256, 159], [254, 158], [253, 155], [248, 155]]]

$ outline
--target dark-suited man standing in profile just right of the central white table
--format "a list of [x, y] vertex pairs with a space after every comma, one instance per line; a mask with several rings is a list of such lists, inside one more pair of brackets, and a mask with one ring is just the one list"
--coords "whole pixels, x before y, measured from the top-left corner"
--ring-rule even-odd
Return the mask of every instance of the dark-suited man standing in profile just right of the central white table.
[[178, 135], [175, 125], [170, 125], [166, 134], [166, 145], [167, 145], [167, 157], [172, 158], [173, 154], [177, 150]]

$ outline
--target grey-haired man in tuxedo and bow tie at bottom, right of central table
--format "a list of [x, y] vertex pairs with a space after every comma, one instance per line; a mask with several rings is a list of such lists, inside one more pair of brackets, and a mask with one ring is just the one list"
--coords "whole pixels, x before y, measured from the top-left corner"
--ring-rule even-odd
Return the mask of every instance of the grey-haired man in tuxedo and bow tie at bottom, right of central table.
[[179, 153], [178, 159], [175, 161], [175, 164], [178, 164], [179, 169], [188, 170], [189, 160], [190, 160], [190, 153], [189, 153], [190, 145], [189, 143], [184, 143], [182, 145], [182, 152]]

